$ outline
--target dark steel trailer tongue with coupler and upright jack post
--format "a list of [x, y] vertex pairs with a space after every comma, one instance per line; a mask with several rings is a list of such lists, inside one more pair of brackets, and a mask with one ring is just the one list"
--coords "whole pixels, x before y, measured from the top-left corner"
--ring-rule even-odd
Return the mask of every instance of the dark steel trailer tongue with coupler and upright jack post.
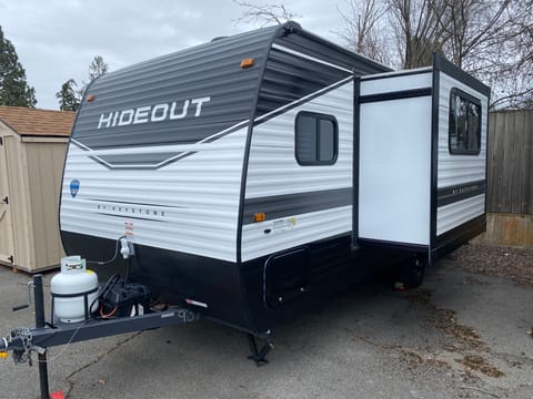
[[[8, 336], [3, 338], [0, 337], [0, 354], [11, 350], [16, 364], [28, 362], [31, 366], [31, 352], [37, 352], [41, 392], [40, 399], [64, 398], [61, 391], [50, 393], [47, 348], [124, 332], [192, 323], [200, 318], [200, 315], [194, 311], [177, 307], [132, 317], [118, 317], [105, 320], [90, 318], [80, 323], [57, 323], [52, 325], [44, 320], [42, 275], [37, 274], [33, 276], [32, 286], [34, 293], [36, 326], [31, 328], [17, 328]], [[261, 352], [263, 350], [261, 350]], [[261, 352], [257, 355], [260, 356]], [[268, 350], [264, 355], [266, 355], [266, 352]], [[262, 356], [264, 357], [264, 355]]]

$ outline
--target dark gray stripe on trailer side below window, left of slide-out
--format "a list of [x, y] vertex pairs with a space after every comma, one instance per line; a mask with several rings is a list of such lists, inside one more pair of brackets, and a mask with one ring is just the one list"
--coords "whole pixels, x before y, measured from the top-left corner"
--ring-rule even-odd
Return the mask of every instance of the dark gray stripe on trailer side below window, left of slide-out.
[[253, 215], [255, 213], [264, 213], [265, 219], [272, 221], [280, 217], [352, 205], [352, 187], [345, 187], [247, 198], [244, 200], [242, 224], [253, 223]]

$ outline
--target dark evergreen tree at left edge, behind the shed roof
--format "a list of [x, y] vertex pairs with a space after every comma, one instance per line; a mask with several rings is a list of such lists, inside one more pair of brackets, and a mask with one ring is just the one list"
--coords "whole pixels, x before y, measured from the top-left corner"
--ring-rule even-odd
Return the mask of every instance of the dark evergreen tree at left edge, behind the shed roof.
[[36, 90], [28, 85], [17, 51], [0, 27], [0, 105], [34, 108], [36, 103]]

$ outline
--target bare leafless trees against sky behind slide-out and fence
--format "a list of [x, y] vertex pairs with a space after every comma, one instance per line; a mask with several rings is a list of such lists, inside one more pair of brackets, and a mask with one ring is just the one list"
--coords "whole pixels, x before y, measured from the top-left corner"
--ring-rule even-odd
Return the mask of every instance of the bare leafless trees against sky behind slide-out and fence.
[[[386, 7], [380, 13], [368, 12], [366, 7], [376, 3]], [[339, 10], [344, 29], [338, 34], [355, 51], [379, 61], [385, 53], [389, 60], [401, 60], [401, 68], [429, 65], [432, 53], [440, 52], [493, 88], [493, 106], [533, 106], [533, 0], [350, 0], [350, 4], [349, 12]]]

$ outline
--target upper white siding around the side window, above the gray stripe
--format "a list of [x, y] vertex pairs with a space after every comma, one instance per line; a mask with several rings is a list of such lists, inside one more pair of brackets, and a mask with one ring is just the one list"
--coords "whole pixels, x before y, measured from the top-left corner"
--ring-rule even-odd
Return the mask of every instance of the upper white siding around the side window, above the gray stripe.
[[[247, 198], [352, 185], [353, 82], [291, 109], [253, 129]], [[334, 165], [301, 166], [294, 155], [294, 120], [301, 111], [334, 115], [339, 156]]]

